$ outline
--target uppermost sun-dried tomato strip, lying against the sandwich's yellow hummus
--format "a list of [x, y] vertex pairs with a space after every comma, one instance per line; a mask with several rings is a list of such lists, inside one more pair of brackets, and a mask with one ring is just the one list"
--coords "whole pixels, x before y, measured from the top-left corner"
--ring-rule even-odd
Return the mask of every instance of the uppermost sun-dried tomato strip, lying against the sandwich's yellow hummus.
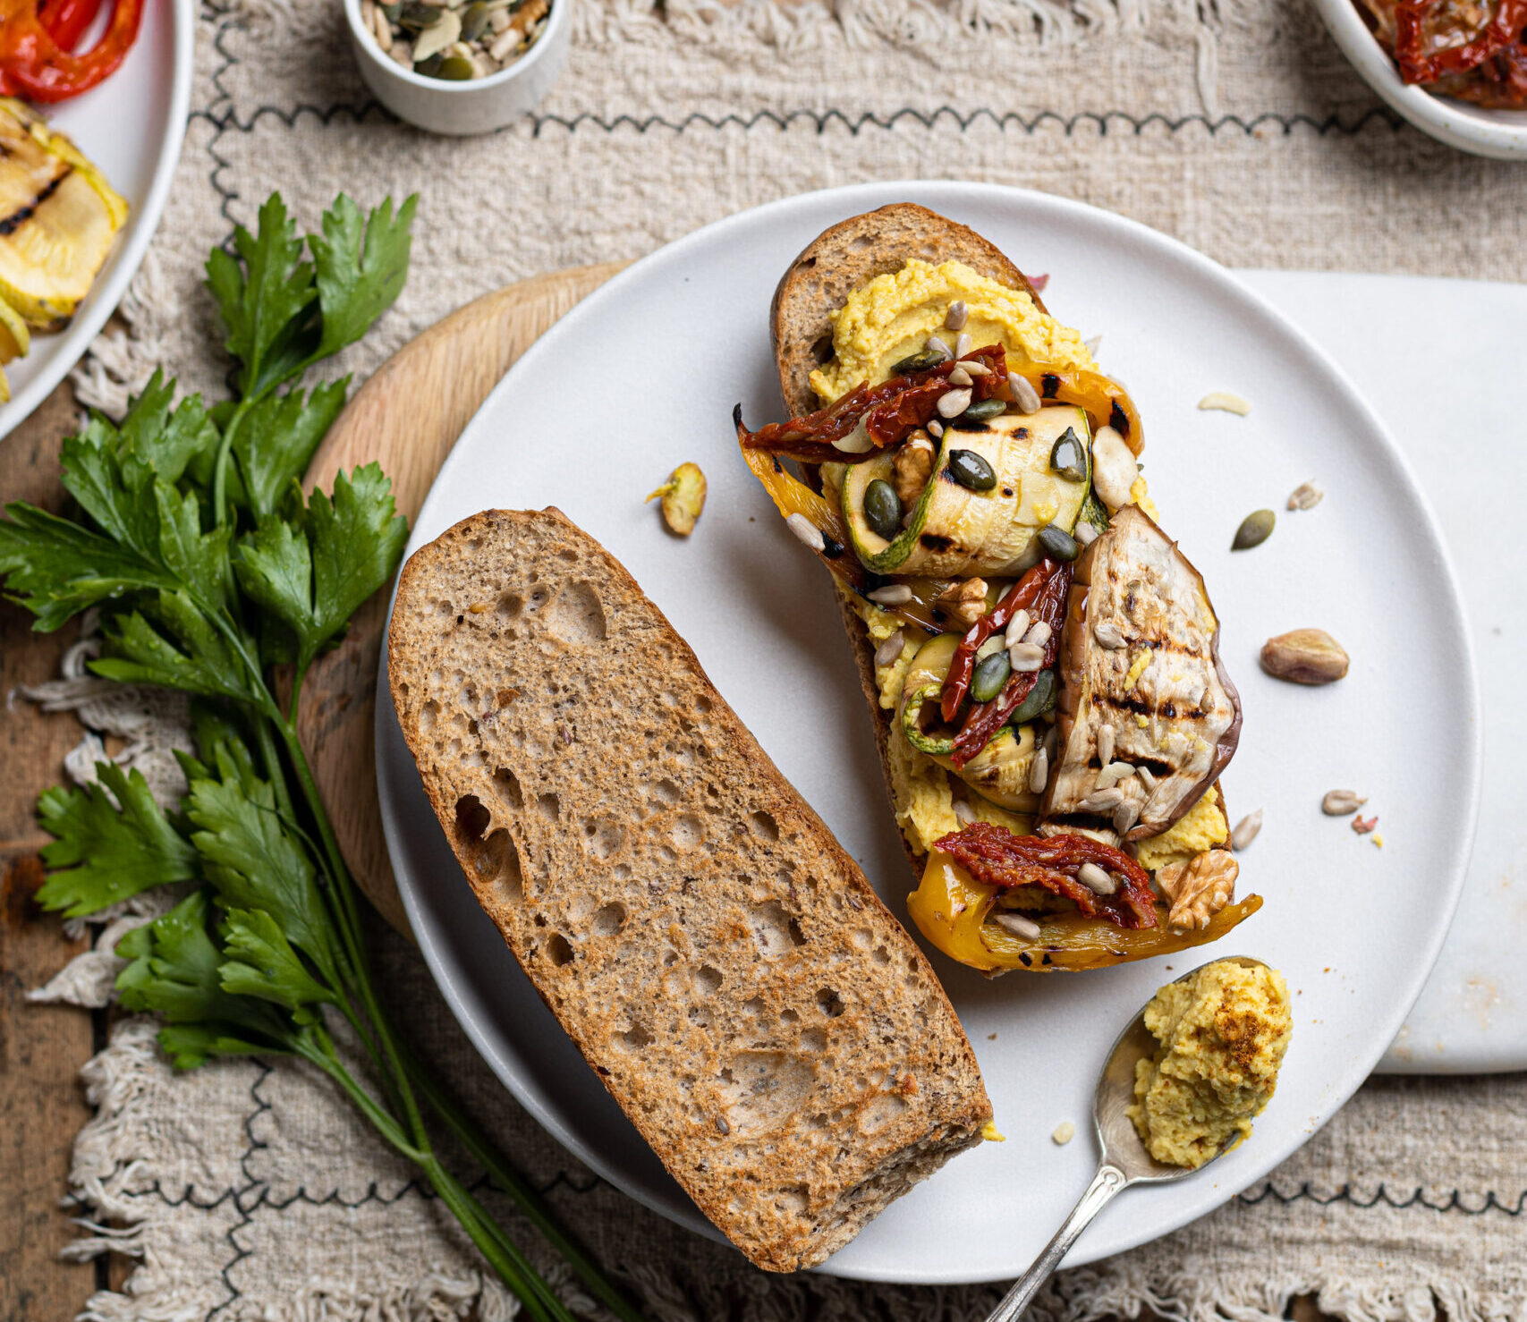
[[[971, 383], [971, 400], [989, 400], [1008, 395], [1008, 357], [1002, 345], [986, 345], [968, 353], [964, 362], [979, 362], [988, 372]], [[948, 374], [954, 360], [904, 377], [892, 377], [878, 386], [858, 385], [841, 400], [825, 409], [791, 418], [788, 423], [770, 423], [742, 437], [742, 447], [768, 450], [786, 459], [805, 464], [854, 464], [873, 458], [876, 450], [899, 446], [915, 427], [925, 427], [938, 417], [938, 403], [950, 389]], [[873, 449], [849, 453], [834, 446], [852, 432], [860, 420], [869, 434]]]

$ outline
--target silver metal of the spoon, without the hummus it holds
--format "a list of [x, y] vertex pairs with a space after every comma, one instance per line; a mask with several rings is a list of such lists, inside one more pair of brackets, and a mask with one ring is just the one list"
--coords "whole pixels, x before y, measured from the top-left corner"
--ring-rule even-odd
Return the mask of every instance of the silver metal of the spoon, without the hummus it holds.
[[[1212, 962], [1219, 963], [1220, 960]], [[1225, 962], [1245, 968], [1266, 968], [1260, 959], [1245, 954], [1226, 956]], [[1197, 971], [1190, 969], [1176, 982], [1186, 982]], [[1070, 1215], [1055, 1232], [1055, 1238], [1034, 1259], [1034, 1266], [1012, 1282], [1012, 1288], [986, 1322], [1014, 1322], [1020, 1317], [1040, 1287], [1055, 1275], [1055, 1269], [1060, 1267], [1061, 1258], [1066, 1256], [1070, 1246], [1092, 1224], [1092, 1218], [1109, 1206], [1121, 1189], [1127, 1189], [1130, 1185], [1164, 1185], [1168, 1180], [1196, 1175], [1229, 1151], [1231, 1145], [1220, 1148], [1196, 1171], [1186, 1166], [1165, 1166], [1145, 1151], [1141, 1136], [1135, 1131], [1135, 1122], [1125, 1114], [1125, 1110], [1135, 1102], [1135, 1062], [1153, 1055], [1157, 1046], [1154, 1035], [1145, 1027], [1145, 1006], [1141, 1006], [1139, 1014], [1130, 1020], [1113, 1043], [1107, 1064], [1098, 1076], [1098, 1093], [1092, 1104], [1092, 1122], [1098, 1130], [1098, 1146], [1102, 1149], [1098, 1174], [1092, 1177], [1087, 1192], [1070, 1209]]]

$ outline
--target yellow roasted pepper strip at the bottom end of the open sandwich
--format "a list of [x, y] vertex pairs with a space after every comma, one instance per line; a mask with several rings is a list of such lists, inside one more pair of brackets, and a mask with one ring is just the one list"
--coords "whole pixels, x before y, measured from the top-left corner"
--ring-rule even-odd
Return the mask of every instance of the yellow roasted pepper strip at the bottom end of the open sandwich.
[[922, 884], [907, 898], [907, 910], [918, 931], [950, 959], [996, 974], [1075, 972], [1174, 954], [1219, 940], [1261, 908], [1261, 896], [1249, 895], [1222, 908], [1208, 927], [1188, 931], [1167, 927], [1165, 905], [1156, 905], [1159, 922], [1148, 928], [1115, 927], [1083, 913], [1025, 913], [1040, 928], [1034, 940], [1026, 940], [988, 921], [1000, 893], [1000, 887], [976, 881], [953, 855], [935, 849]]

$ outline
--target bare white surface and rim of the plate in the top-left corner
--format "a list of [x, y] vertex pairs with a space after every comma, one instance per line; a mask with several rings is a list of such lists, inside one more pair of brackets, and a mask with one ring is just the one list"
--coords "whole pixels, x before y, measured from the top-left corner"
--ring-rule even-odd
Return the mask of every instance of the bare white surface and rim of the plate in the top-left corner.
[[122, 66], [99, 87], [41, 107], [133, 208], [79, 311], [60, 334], [32, 337], [32, 351], [6, 363], [11, 401], [0, 405], [0, 437], [18, 426], [90, 348], [127, 293], [148, 250], [180, 160], [191, 105], [192, 0], [148, 0], [144, 26]]

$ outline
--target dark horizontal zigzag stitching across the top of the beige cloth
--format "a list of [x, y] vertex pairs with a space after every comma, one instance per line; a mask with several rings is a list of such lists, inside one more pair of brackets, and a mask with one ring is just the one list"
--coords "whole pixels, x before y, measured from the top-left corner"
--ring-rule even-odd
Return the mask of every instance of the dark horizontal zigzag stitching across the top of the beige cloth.
[[[287, 128], [295, 128], [298, 119], [302, 116], [313, 116], [321, 124], [333, 124], [339, 116], [348, 114], [356, 122], [366, 119], [370, 114], [380, 114], [385, 119], [397, 122], [397, 118], [391, 114], [376, 101], [366, 101], [360, 105], [339, 104], [330, 107], [321, 105], [295, 105], [290, 110], [284, 110], [279, 105], [257, 105], [253, 113], [247, 119], [240, 119], [237, 114], [229, 113], [226, 116], [214, 116], [209, 111], [197, 111], [192, 118], [203, 118], [214, 124], [220, 133], [228, 130], [235, 130], [238, 133], [252, 133], [255, 125], [264, 119], [272, 118], [281, 121]], [[1211, 136], [1217, 136], [1222, 130], [1240, 130], [1245, 136], [1255, 136], [1258, 128], [1277, 127], [1283, 130], [1284, 136], [1292, 134], [1296, 128], [1313, 130], [1321, 137], [1328, 134], [1345, 134], [1356, 136], [1368, 128], [1370, 124], [1382, 124], [1396, 131], [1405, 128], [1405, 121], [1400, 119], [1388, 107], [1374, 105], [1359, 114], [1354, 121], [1344, 121], [1341, 114], [1327, 114], [1324, 118], [1315, 118], [1313, 114], [1275, 114], [1274, 111], [1264, 111], [1263, 114], [1255, 114], [1246, 119], [1240, 114], [1222, 114], [1219, 119], [1209, 119], [1206, 114], [1182, 114], [1177, 118], [1162, 114], [1161, 111], [1151, 111], [1145, 116], [1135, 116], [1124, 110], [1106, 110], [1093, 111], [1083, 110], [1077, 114], [1060, 114], [1055, 110], [1041, 110], [1037, 114], [1025, 116], [1019, 114], [1015, 110], [996, 111], [988, 108], [960, 111], [953, 105], [941, 105], [936, 110], [918, 110], [915, 107], [904, 107], [895, 110], [890, 114], [881, 114], [878, 111], [864, 111], [858, 116], [849, 116], [841, 110], [759, 110], [753, 114], [722, 114], [713, 116], [704, 111], [692, 111], [683, 119], [666, 119], [661, 114], [649, 114], [637, 118], [634, 114], [617, 114], [612, 119], [605, 119], [603, 116], [585, 111], [582, 114], [563, 116], [563, 114], [531, 114], [530, 122], [534, 125], [533, 136], [539, 137], [542, 128], [554, 127], [565, 128], [570, 133], [579, 128], [596, 128], [602, 133], [614, 133], [620, 128], [629, 128], [635, 133], [651, 133], [652, 130], [669, 130], [670, 133], [686, 133], [690, 128], [709, 128], [712, 131], [721, 131], [724, 128], [741, 128], [748, 131], [760, 124], [773, 124], [776, 128], [789, 130], [797, 122], [805, 122], [811, 125], [817, 133], [826, 133], [828, 127], [832, 124], [840, 124], [851, 134], [858, 136], [869, 128], [889, 130], [895, 128], [904, 121], [919, 124], [924, 128], [933, 128], [941, 119], [951, 119], [959, 130], [964, 133], [971, 125], [979, 121], [989, 121], [996, 128], [1003, 131], [1009, 128], [1019, 128], [1026, 134], [1034, 134], [1046, 124], [1058, 125], [1066, 137], [1072, 137], [1078, 128], [1084, 125], [1092, 125], [1098, 130], [1099, 136], [1107, 136], [1112, 125], [1124, 125], [1127, 130], [1133, 131], [1135, 136], [1141, 136], [1145, 130], [1153, 125], [1165, 128], [1168, 133], [1180, 133], [1183, 128], [1202, 127], [1208, 130]], [[214, 159], [218, 160], [220, 168], [228, 165], [226, 160], [217, 156], [214, 151]], [[214, 171], [215, 174], [215, 171]], [[217, 183], [214, 180], [214, 188]], [[220, 192], [223, 189], [218, 189]]]

